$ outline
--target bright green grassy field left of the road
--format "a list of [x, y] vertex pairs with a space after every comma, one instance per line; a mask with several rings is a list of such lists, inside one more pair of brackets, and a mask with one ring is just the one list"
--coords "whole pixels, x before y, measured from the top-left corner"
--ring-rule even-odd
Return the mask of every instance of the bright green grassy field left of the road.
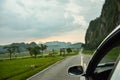
[[44, 57], [27, 57], [17, 59], [5, 59], [0, 61], [0, 80], [25, 80], [33, 74], [45, 69], [65, 57], [76, 55], [78, 51], [59, 56], [59, 53], [50, 57], [47, 54]]

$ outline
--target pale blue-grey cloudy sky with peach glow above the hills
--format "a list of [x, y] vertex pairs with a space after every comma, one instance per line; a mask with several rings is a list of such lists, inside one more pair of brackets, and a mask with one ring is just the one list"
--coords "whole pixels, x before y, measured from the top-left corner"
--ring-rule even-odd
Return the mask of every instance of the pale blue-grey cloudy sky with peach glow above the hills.
[[13, 42], [84, 42], [104, 0], [0, 0], [0, 45]]

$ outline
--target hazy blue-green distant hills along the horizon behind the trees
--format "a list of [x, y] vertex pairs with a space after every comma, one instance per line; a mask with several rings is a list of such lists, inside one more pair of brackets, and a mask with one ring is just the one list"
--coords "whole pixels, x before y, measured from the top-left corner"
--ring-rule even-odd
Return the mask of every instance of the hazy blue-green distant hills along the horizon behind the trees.
[[[27, 47], [34, 47], [36, 45], [40, 44], [36, 44], [35, 42], [31, 42], [31, 43], [12, 43], [10, 45], [4, 45], [4, 46], [0, 46], [0, 54], [4, 54], [7, 53], [6, 49], [3, 49], [5, 46], [19, 46], [19, 51], [20, 52], [26, 52], [27, 51]], [[59, 42], [59, 41], [52, 41], [52, 42], [46, 42], [44, 43], [44, 45], [47, 45], [47, 50], [51, 51], [51, 50], [60, 50], [60, 48], [75, 48], [75, 49], [80, 49], [82, 43], [75, 43], [72, 44], [71, 42]]]

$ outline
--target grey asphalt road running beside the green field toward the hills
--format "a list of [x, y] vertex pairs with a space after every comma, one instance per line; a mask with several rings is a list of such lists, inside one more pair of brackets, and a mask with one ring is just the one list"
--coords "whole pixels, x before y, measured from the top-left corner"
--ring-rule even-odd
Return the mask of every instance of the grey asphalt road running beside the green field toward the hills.
[[67, 70], [72, 65], [81, 64], [81, 59], [85, 60], [85, 63], [88, 63], [89, 56], [82, 55], [81, 58], [81, 55], [82, 54], [79, 53], [76, 56], [66, 58], [27, 80], [80, 80], [79, 76], [69, 75]]

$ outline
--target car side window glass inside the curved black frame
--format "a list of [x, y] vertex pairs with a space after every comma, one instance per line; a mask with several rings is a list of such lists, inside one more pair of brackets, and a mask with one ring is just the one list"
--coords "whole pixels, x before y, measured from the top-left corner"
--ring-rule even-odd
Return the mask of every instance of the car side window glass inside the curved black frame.
[[120, 46], [113, 48], [102, 58], [94, 71], [95, 80], [108, 80], [119, 54]]

